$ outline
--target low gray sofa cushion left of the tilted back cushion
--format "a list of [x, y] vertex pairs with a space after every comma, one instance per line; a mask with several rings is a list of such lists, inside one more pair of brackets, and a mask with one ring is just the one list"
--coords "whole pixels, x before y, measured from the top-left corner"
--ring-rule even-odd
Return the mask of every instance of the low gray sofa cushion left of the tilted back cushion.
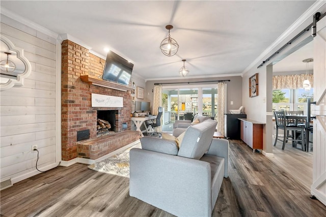
[[176, 141], [158, 139], [153, 137], [143, 137], [141, 139], [142, 149], [156, 151], [165, 154], [177, 155], [179, 148]]

